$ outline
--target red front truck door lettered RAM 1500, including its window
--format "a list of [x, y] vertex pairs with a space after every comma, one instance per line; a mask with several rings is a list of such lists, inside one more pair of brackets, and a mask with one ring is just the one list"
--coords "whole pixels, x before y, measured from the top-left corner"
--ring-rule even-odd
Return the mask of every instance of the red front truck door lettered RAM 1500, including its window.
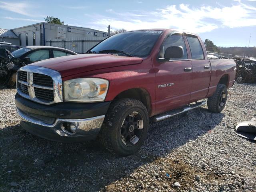
[[[183, 48], [182, 58], [164, 60], [164, 52], [170, 46]], [[192, 64], [188, 60], [183, 34], [168, 34], [160, 47], [158, 59], [154, 62], [156, 73], [156, 108], [164, 112], [177, 108], [190, 100], [192, 85]]]

